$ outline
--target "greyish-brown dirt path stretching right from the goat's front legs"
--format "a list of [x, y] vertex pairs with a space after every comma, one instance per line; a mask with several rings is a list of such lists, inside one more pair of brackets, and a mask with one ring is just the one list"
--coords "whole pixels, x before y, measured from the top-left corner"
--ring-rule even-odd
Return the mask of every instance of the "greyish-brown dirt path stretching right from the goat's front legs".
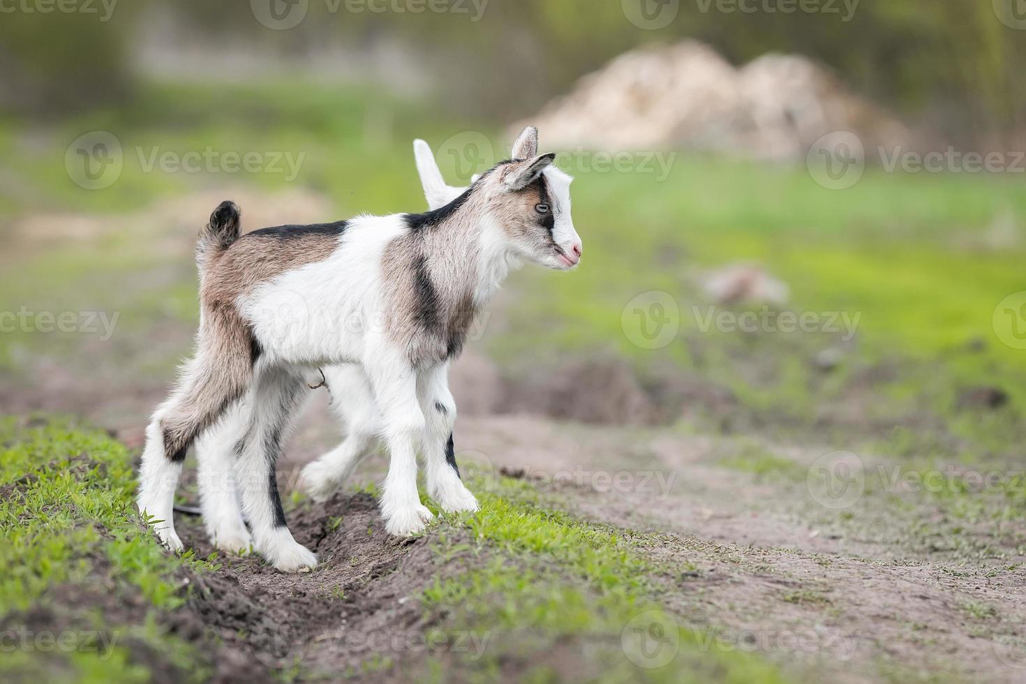
[[[679, 569], [662, 578], [663, 600], [710, 648], [760, 650], [840, 681], [1026, 681], [1022, 548], [974, 559], [903, 544], [905, 530], [931, 535], [929, 505], [875, 520], [873, 500], [825, 511], [803, 483], [716, 466], [722, 440], [665, 430], [497, 417], [463, 421], [459, 443], [592, 520], [659, 533], [647, 553]], [[804, 469], [818, 453], [780, 457]]]

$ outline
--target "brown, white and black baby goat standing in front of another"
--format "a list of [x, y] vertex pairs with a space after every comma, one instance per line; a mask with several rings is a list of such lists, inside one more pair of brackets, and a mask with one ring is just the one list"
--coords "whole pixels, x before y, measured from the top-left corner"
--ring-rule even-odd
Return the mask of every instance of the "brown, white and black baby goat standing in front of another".
[[[428, 489], [460, 510], [474, 501], [445, 444], [456, 407], [447, 362], [474, 316], [521, 259], [566, 271], [581, 257], [570, 218], [571, 178], [538, 154], [528, 127], [513, 159], [445, 206], [423, 214], [358, 216], [239, 236], [223, 202], [200, 233], [196, 353], [147, 428], [139, 508], [171, 550], [171, 518], [186, 452], [226, 413], [235, 472], [255, 551], [282, 571], [316, 565], [288, 531], [275, 479], [282, 440], [307, 379], [320, 366], [358, 365], [390, 453], [381, 497], [392, 534], [422, 530], [431, 513], [417, 491], [417, 451]], [[243, 410], [232, 411], [243, 406]], [[237, 429], [237, 431], [236, 431]], [[452, 506], [455, 505], [455, 506]], [[475, 502], [476, 507], [476, 502]]]

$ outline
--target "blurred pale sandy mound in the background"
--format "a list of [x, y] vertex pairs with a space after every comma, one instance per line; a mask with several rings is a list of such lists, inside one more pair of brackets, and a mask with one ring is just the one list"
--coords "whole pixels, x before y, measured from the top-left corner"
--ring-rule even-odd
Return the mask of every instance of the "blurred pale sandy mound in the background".
[[837, 130], [854, 131], [866, 149], [922, 137], [805, 56], [768, 53], [738, 69], [693, 40], [618, 56], [529, 123], [557, 147], [682, 147], [773, 160], [804, 159], [813, 142]]

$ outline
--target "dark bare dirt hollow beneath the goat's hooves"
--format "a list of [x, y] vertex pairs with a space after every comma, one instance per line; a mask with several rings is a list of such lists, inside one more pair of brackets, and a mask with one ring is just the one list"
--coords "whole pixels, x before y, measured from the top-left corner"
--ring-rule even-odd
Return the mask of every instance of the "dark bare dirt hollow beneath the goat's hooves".
[[[187, 546], [200, 556], [212, 553], [198, 522], [182, 527]], [[289, 528], [317, 554], [314, 572], [283, 574], [250, 556], [193, 579], [189, 608], [227, 653], [227, 659], [219, 653], [219, 674], [234, 678], [242, 660], [270, 672], [300, 658], [305, 671], [338, 674], [373, 658], [416, 656], [410, 635], [423, 636], [435, 619], [418, 596], [444, 570], [427, 537], [389, 536], [366, 493], [311, 505]]]

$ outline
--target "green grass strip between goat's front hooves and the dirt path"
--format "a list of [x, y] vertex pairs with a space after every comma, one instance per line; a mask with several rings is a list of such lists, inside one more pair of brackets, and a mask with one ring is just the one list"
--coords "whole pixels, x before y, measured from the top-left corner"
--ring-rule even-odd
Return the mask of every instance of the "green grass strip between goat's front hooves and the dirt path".
[[[756, 654], [709, 649], [652, 598], [649, 578], [658, 568], [638, 553], [642, 535], [554, 511], [523, 480], [485, 481], [471, 465], [464, 470], [481, 510], [449, 524], [470, 532], [472, 542], [440, 536], [436, 555], [447, 571], [425, 591], [424, 604], [448, 614], [446, 632], [474, 635], [483, 644], [445, 654], [459, 659], [469, 681], [486, 681], [510, 661], [525, 681], [551, 681], [558, 658], [548, 654], [558, 649], [580, 652], [587, 670], [580, 677], [589, 681], [785, 681]], [[639, 646], [632, 630], [659, 631], [670, 640], [661, 643], [675, 649], [672, 657], [655, 660], [646, 648], [662, 646]]]

